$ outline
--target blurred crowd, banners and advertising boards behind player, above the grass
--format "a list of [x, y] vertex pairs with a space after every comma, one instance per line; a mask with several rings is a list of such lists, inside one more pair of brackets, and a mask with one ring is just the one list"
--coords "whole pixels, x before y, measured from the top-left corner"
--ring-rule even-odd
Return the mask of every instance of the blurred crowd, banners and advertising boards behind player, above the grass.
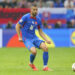
[[0, 0], [0, 47], [24, 47], [18, 42], [15, 25], [34, 3], [43, 31], [52, 41], [50, 47], [74, 47], [75, 0]]

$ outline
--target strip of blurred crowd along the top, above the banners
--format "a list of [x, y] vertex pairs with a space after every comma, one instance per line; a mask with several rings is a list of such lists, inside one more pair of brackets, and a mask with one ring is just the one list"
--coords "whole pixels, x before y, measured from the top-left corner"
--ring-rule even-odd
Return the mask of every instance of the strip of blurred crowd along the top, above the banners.
[[0, 8], [29, 8], [33, 3], [38, 7], [75, 7], [75, 0], [0, 0]]

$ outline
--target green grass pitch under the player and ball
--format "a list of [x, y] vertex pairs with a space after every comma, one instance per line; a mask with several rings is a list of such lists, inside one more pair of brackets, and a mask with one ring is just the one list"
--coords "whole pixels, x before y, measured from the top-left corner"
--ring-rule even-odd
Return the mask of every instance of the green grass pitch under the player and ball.
[[42, 71], [43, 51], [37, 49], [34, 64], [39, 71], [29, 66], [30, 52], [26, 48], [0, 48], [0, 75], [75, 75], [72, 64], [75, 62], [75, 48], [49, 48], [48, 66], [54, 71]]

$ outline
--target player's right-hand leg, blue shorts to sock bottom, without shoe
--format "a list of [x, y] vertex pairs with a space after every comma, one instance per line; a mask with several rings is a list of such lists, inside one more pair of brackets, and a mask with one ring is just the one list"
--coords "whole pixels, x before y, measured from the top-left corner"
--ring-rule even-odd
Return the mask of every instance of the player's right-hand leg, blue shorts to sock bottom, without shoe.
[[47, 67], [47, 63], [48, 63], [48, 48], [45, 45], [45, 42], [42, 40], [39, 40], [38, 38], [36, 38], [36, 40], [34, 41], [34, 45], [37, 48], [41, 48], [44, 52], [43, 52], [43, 62], [44, 62], [44, 68]]

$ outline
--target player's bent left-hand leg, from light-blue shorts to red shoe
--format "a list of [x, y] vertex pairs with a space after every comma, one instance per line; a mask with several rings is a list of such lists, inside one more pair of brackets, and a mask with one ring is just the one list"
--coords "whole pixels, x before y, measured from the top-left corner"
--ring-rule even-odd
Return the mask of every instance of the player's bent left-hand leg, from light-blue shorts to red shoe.
[[28, 50], [31, 52], [30, 54], [30, 64], [29, 66], [34, 70], [37, 71], [38, 69], [35, 67], [35, 65], [33, 64], [35, 56], [36, 56], [36, 48], [35, 46], [32, 44], [32, 42], [30, 40], [25, 40], [24, 41], [25, 46], [28, 48]]

